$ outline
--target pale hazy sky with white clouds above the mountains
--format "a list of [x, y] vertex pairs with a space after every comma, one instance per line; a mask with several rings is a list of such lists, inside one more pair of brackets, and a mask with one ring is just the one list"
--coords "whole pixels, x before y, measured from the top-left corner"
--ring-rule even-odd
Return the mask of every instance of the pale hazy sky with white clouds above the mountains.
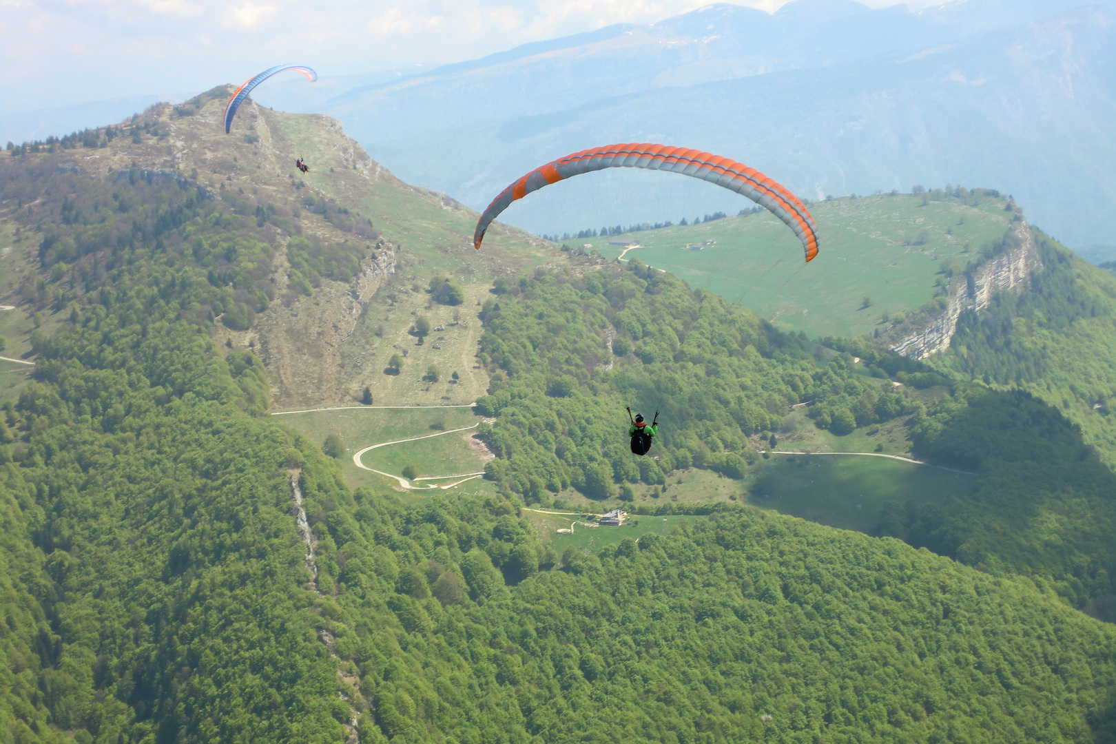
[[[738, 0], [775, 11], [786, 0]], [[913, 0], [908, 7], [932, 4]], [[0, 0], [0, 115], [241, 81], [279, 62], [346, 75], [472, 59], [705, 0]], [[874, 8], [895, 0], [866, 0]]]

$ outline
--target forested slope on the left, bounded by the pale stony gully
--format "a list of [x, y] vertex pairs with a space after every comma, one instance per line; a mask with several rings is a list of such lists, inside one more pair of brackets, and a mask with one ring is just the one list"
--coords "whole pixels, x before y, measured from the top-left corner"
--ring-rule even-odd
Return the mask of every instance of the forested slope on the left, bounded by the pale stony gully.
[[212, 308], [251, 308], [267, 235], [173, 174], [46, 160], [6, 176], [35, 203], [40, 270], [81, 301], [35, 337], [40, 381], [4, 404], [0, 731], [338, 741], [348, 708], [289, 516], [299, 444], [253, 417], [254, 356], [204, 332]]

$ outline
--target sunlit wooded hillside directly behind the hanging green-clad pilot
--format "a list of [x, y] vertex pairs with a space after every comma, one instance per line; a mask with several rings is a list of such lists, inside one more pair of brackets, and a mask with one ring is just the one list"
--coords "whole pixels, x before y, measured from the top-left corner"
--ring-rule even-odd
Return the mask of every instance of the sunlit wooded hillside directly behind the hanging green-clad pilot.
[[[478, 400], [500, 416], [489, 471], [528, 499], [570, 484], [608, 497], [614, 483], [663, 483], [691, 465], [739, 479], [756, 456], [748, 437], [777, 429], [802, 400], [841, 431], [921, 406], [845, 359], [820, 363], [819, 349], [711, 292], [638, 261], [629, 269], [539, 272], [518, 297], [484, 306], [479, 358], [502, 370]], [[662, 412], [654, 457], [632, 457], [625, 406]]]

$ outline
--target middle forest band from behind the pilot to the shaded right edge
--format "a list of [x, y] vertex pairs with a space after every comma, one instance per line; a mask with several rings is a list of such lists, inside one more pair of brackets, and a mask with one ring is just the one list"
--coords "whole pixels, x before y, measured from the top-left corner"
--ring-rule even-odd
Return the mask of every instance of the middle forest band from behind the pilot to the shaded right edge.
[[[980, 480], [970, 499], [889, 510], [877, 534], [1050, 581], [1075, 607], [1116, 617], [1116, 476], [1076, 424], [1026, 392], [951, 381], [863, 339], [782, 335], [637, 261], [588, 279], [540, 272], [518, 289], [485, 305], [480, 358], [498, 371], [478, 405], [499, 414], [489, 477], [527, 503], [555, 505], [569, 485], [604, 499], [691, 466], [740, 477], [757, 457], [747, 437], [800, 402], [838, 434], [901, 417], [916, 455]], [[628, 452], [626, 405], [661, 409], [657, 461]]]

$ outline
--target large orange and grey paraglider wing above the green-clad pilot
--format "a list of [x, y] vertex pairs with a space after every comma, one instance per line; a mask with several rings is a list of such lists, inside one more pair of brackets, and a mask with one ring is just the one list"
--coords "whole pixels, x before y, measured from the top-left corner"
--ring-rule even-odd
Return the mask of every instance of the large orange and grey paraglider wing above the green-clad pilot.
[[818, 254], [818, 232], [814, 224], [814, 218], [806, 205], [782, 185], [759, 171], [728, 157], [685, 147], [646, 143], [583, 149], [531, 171], [500, 192], [484, 210], [473, 233], [473, 248], [480, 249], [489, 224], [516, 200], [558, 181], [591, 171], [615, 167], [670, 171], [709, 181], [723, 189], [734, 191], [782, 220], [802, 241], [807, 261], [812, 260]]

